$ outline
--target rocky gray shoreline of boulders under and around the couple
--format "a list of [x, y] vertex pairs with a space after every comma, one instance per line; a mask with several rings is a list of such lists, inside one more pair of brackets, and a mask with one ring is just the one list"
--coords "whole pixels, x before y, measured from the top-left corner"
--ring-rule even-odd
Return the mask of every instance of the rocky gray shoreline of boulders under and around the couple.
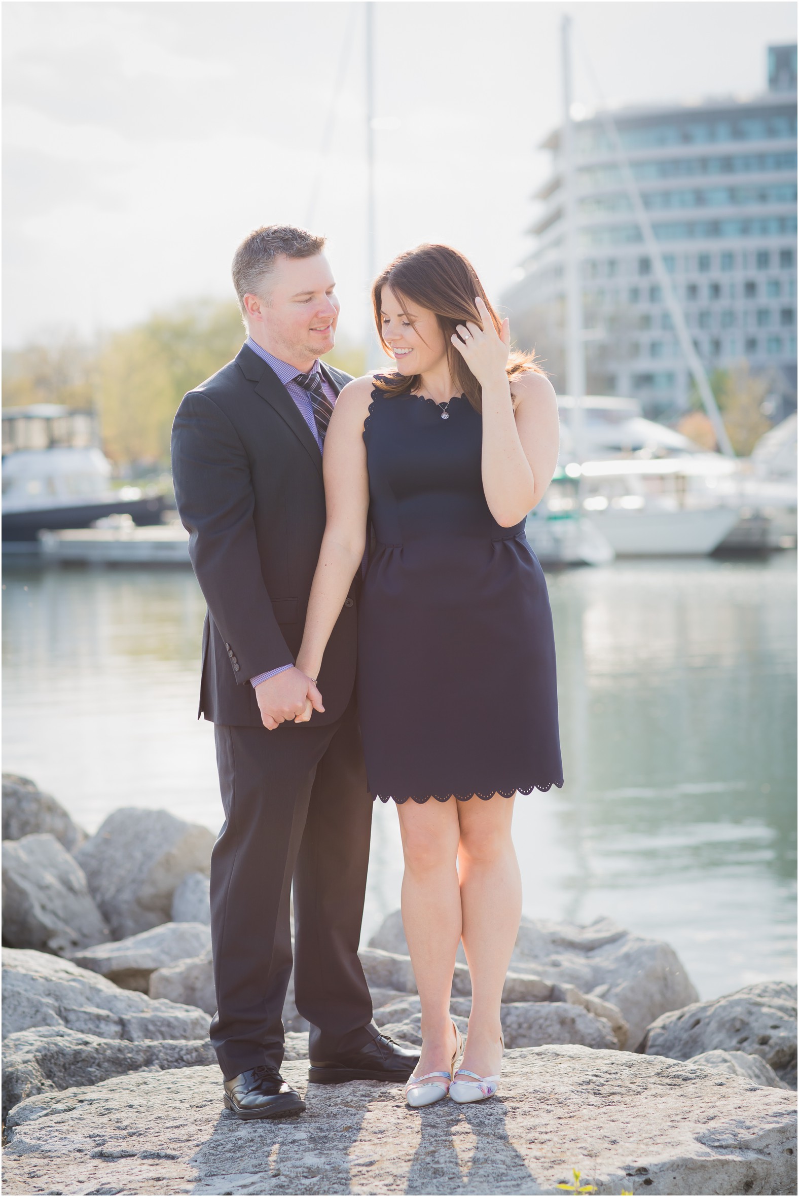
[[[7, 1193], [603, 1193], [797, 1190], [797, 990], [700, 1002], [673, 949], [609, 919], [523, 919], [500, 1095], [410, 1111], [373, 1082], [307, 1086], [289, 989], [285, 1075], [307, 1113], [240, 1123], [207, 1040], [213, 836], [128, 808], [86, 837], [4, 776]], [[361, 953], [374, 1019], [419, 1043], [398, 912]], [[465, 1028], [469, 973], [452, 1013]]]

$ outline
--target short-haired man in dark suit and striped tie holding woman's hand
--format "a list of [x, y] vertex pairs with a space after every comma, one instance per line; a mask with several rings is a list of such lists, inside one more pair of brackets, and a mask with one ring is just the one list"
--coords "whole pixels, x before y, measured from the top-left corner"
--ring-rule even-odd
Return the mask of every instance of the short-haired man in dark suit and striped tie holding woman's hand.
[[[281, 225], [239, 245], [246, 342], [185, 395], [172, 430], [175, 497], [208, 603], [200, 713], [215, 725], [225, 810], [211, 864], [211, 1039], [240, 1118], [305, 1108], [280, 1076], [292, 881], [309, 1078], [403, 1082], [417, 1061], [378, 1033], [358, 959], [372, 803], [353, 693], [355, 582], [318, 689], [293, 664], [325, 523], [324, 436], [349, 381], [319, 361], [338, 317], [323, 248]], [[310, 721], [294, 723], [306, 701]]]

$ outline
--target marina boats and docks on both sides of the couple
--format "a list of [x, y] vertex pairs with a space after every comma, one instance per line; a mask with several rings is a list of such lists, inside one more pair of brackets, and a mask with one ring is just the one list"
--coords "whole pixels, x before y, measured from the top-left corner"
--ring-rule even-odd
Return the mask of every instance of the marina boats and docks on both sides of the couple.
[[[559, 396], [555, 478], [526, 521], [542, 564], [764, 552], [797, 543], [797, 421], [751, 460], [702, 452], [635, 399]], [[166, 493], [111, 490], [93, 413], [36, 405], [4, 414], [4, 560], [189, 565]]]

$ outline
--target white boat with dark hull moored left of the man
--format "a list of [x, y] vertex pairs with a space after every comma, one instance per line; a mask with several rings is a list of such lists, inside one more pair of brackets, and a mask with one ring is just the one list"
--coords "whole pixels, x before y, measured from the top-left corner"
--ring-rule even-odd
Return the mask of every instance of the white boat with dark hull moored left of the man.
[[32, 403], [2, 412], [2, 540], [32, 542], [44, 529], [89, 528], [111, 515], [157, 524], [164, 496], [111, 488], [93, 412]]

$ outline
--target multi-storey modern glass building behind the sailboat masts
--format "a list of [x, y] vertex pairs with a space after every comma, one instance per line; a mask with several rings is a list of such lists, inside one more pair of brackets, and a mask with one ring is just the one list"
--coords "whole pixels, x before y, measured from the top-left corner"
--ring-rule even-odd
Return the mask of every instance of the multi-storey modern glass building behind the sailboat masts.
[[[614, 117], [706, 369], [766, 372], [781, 418], [797, 406], [797, 47], [769, 49], [762, 96]], [[502, 302], [562, 390], [560, 142], [560, 129], [543, 142], [553, 169], [535, 195], [535, 248]], [[688, 366], [599, 116], [575, 124], [574, 144], [587, 390], [676, 414]]]

